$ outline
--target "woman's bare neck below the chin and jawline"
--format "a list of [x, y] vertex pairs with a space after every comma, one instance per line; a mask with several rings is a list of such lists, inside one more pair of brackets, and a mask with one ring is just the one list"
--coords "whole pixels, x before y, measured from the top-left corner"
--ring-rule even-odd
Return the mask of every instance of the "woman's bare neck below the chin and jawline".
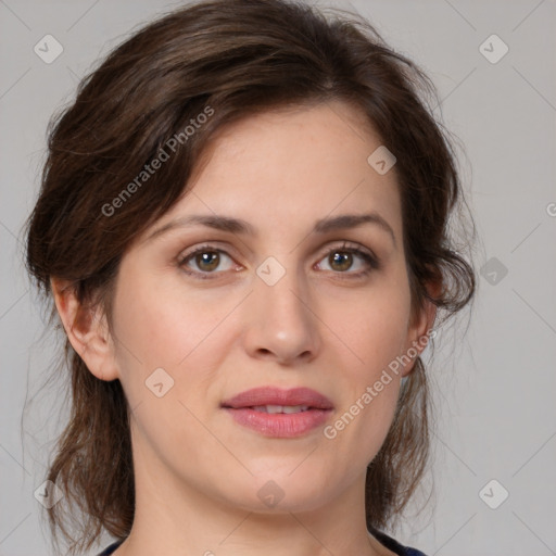
[[157, 459], [146, 455], [139, 454], [138, 462], [134, 460], [134, 525], [114, 556], [393, 554], [367, 531], [365, 477], [324, 506], [262, 511], [208, 496], [205, 485], [179, 480]]

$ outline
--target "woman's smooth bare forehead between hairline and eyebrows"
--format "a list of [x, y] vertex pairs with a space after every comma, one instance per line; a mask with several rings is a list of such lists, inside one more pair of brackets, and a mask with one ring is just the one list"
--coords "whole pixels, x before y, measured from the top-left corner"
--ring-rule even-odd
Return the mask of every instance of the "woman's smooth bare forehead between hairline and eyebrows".
[[395, 168], [367, 159], [381, 140], [361, 112], [339, 102], [260, 113], [211, 141], [185, 195], [157, 225], [186, 214], [226, 214], [285, 233], [324, 216], [378, 212], [401, 233]]

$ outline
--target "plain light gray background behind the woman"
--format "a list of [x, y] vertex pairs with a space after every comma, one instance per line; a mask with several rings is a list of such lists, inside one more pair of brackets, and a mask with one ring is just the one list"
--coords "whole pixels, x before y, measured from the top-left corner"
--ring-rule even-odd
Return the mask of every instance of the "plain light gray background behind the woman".
[[[395, 534], [428, 555], [556, 554], [556, 2], [317, 3], [356, 9], [432, 77], [444, 122], [465, 144], [462, 169], [480, 235], [476, 264], [486, 265], [467, 334], [465, 323], [441, 332], [444, 348], [431, 370], [435, 508], [409, 513]], [[21, 227], [38, 189], [46, 126], [99, 56], [174, 5], [0, 0], [1, 556], [50, 554], [34, 491], [65, 417], [60, 386], [37, 392], [55, 343], [42, 337], [22, 266]], [[64, 49], [51, 64], [34, 52], [47, 34]], [[497, 63], [479, 50], [493, 34], [509, 48]], [[497, 43], [486, 48], [491, 56], [501, 52]], [[502, 279], [495, 270], [495, 283], [493, 265], [507, 269]], [[500, 485], [481, 498], [492, 479]], [[502, 488], [509, 496], [492, 509], [484, 501], [498, 503]]]

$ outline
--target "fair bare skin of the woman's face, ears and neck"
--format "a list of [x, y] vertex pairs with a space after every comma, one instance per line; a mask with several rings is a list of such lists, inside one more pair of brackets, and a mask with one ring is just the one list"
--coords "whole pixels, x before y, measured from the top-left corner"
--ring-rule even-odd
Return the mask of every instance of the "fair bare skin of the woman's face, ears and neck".
[[[367, 163], [380, 144], [338, 101], [250, 116], [217, 137], [192, 192], [125, 253], [112, 334], [103, 314], [84, 318], [52, 281], [74, 349], [99, 379], [121, 380], [131, 407], [136, 518], [116, 556], [393, 554], [366, 530], [365, 472], [413, 363], [333, 440], [323, 427], [266, 438], [219, 407], [254, 387], [308, 387], [332, 401], [333, 424], [432, 327], [432, 305], [410, 314], [395, 167], [379, 175]], [[370, 212], [395, 243], [372, 224], [311, 232], [318, 219]], [[194, 225], [147, 240], [192, 214], [242, 218], [257, 235]], [[380, 267], [355, 277], [367, 265], [345, 241]], [[179, 266], [205, 242], [208, 264]], [[334, 263], [336, 252], [348, 262]], [[286, 269], [274, 286], [256, 274], [269, 256]], [[161, 367], [174, 387], [157, 397], [146, 380]], [[274, 508], [257, 496], [270, 480], [283, 493]]]

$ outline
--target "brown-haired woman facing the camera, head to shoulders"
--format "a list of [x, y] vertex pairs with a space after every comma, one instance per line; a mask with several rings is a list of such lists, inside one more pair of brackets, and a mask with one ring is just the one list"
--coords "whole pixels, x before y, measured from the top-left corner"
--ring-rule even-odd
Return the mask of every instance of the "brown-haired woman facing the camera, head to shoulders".
[[27, 229], [73, 553], [422, 554], [384, 531], [427, 462], [420, 355], [475, 291], [432, 90], [368, 23], [282, 0], [177, 10], [81, 83]]

